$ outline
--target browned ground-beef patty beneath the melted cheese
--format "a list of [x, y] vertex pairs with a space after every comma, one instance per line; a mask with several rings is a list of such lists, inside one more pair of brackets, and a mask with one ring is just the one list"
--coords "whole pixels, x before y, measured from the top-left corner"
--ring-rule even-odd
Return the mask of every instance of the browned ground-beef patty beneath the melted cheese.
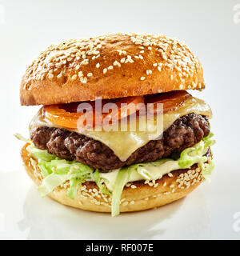
[[209, 133], [210, 123], [206, 116], [187, 114], [165, 130], [161, 139], [146, 143], [134, 151], [125, 162], [102, 142], [65, 129], [38, 127], [32, 131], [31, 140], [39, 149], [48, 150], [59, 158], [75, 160], [100, 171], [108, 171], [134, 163], [167, 158], [170, 154], [194, 146]]

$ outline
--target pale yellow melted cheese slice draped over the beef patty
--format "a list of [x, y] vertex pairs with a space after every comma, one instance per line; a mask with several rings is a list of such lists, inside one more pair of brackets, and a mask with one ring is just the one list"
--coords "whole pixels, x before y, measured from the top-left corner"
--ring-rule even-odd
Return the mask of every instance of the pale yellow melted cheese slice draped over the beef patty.
[[[84, 134], [87, 137], [94, 138], [95, 140], [102, 142], [106, 146], [109, 146], [114, 154], [124, 162], [135, 150], [138, 150], [141, 146], [144, 146], [150, 140], [160, 138], [163, 131], [170, 127], [178, 118], [190, 114], [202, 114], [211, 118], [212, 112], [210, 106], [201, 99], [190, 97], [186, 99], [186, 102], [179, 106], [177, 110], [169, 111], [166, 114], [158, 116], [158, 122], [150, 122], [150, 125], [146, 125], [144, 131], [136, 129], [134, 131], [94, 131], [94, 130], [73, 130], [78, 134]], [[160, 123], [159, 123], [160, 120]], [[143, 123], [144, 122], [144, 123]], [[139, 118], [137, 127], [142, 127], [146, 123], [146, 119]], [[44, 118], [42, 109], [38, 111], [38, 114], [33, 118], [30, 123], [31, 131], [39, 126], [56, 127], [53, 123]], [[65, 128], [65, 127], [59, 127]], [[67, 128], [65, 128], [67, 129]], [[69, 129], [67, 129], [69, 130]]]

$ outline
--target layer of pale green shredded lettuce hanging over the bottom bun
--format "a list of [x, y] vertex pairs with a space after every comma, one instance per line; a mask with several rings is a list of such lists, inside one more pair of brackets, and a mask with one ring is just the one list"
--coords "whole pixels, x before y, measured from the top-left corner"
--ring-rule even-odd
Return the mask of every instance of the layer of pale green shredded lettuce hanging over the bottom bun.
[[142, 176], [142, 179], [151, 180], [152, 176], [150, 171], [146, 169], [146, 166], [160, 166], [167, 161], [176, 161], [178, 162], [179, 169], [187, 169], [195, 163], [198, 163], [198, 166], [202, 168], [203, 176], [208, 178], [214, 170], [214, 163], [208, 159], [205, 154], [207, 153], [209, 146], [213, 146], [215, 143], [215, 141], [211, 139], [213, 135], [214, 134], [210, 133], [198, 144], [183, 150], [176, 160], [174, 160], [175, 158], [165, 158], [155, 162], [138, 163], [132, 166], [123, 167], [118, 170], [114, 182], [114, 190], [111, 194], [103, 184], [104, 181], [101, 179], [98, 169], [94, 170], [90, 166], [83, 165], [79, 162], [66, 161], [54, 156], [54, 154], [49, 154], [47, 150], [39, 150], [32, 142], [30, 142], [30, 140], [22, 137], [20, 134], [15, 134], [18, 139], [30, 143], [30, 146], [27, 146], [26, 150], [38, 159], [38, 166], [44, 177], [41, 186], [38, 187], [38, 192], [42, 197], [49, 194], [56, 187], [63, 185], [66, 181], [70, 181], [70, 188], [68, 189], [66, 196], [74, 199], [82, 182], [94, 179], [99, 190], [101, 190], [102, 193], [111, 196], [111, 211], [113, 217], [120, 213], [122, 190], [126, 183], [129, 182], [130, 175], [134, 170]]

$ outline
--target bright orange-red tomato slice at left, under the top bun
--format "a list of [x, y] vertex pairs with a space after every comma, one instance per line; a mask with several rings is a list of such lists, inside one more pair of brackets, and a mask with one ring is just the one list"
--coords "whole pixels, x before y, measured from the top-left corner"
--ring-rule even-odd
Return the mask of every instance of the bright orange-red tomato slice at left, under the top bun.
[[[106, 105], [107, 103], [109, 105]], [[112, 103], [114, 103], [114, 106], [117, 107], [112, 107]], [[48, 105], [43, 107], [43, 111], [45, 117], [57, 126], [72, 129], [81, 128], [79, 127], [79, 118], [84, 120], [82, 125], [86, 126], [86, 120], [88, 117], [90, 117], [93, 120], [90, 128], [93, 128], [95, 124], [102, 125], [102, 121], [105, 118], [109, 120], [109, 123], [112, 123], [114, 120], [120, 120], [121, 118], [126, 118], [130, 114], [134, 114], [139, 110], [138, 103], [144, 103], [144, 97], [138, 96], [102, 100], [102, 108], [100, 109], [96, 109], [95, 101]]]

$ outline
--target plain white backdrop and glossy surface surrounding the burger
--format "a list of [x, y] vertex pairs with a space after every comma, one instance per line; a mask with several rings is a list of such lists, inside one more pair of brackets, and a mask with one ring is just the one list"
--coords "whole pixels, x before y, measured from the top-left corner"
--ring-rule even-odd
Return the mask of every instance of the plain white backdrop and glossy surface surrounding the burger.
[[[0, 239], [240, 238], [240, 1], [0, 0]], [[235, 9], [234, 9], [235, 6]], [[19, 151], [38, 107], [19, 104], [26, 66], [52, 42], [107, 32], [165, 33], [184, 39], [200, 58], [210, 103], [216, 168], [178, 202], [135, 214], [89, 213], [42, 199], [26, 176]]]

